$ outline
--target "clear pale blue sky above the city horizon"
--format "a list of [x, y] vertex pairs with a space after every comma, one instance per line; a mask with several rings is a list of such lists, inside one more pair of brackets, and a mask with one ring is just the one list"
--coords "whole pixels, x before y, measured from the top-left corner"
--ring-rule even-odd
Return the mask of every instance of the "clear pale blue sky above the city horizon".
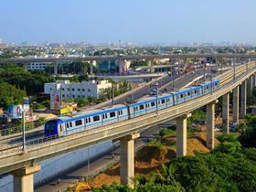
[[256, 43], [256, 0], [1, 0], [7, 43]]

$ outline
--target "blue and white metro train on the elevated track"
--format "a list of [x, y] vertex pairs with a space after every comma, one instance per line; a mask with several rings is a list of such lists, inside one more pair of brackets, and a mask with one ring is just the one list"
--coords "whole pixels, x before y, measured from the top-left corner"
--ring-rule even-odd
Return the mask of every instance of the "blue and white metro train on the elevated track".
[[177, 104], [190, 101], [219, 89], [219, 80], [207, 81], [194, 87], [180, 91], [172, 91], [157, 97], [146, 97], [131, 104], [118, 104], [110, 108], [102, 108], [89, 112], [78, 113], [75, 116], [59, 117], [49, 120], [44, 127], [46, 136], [65, 136], [84, 130], [90, 130], [102, 125], [117, 123], [136, 118], [150, 112], [163, 110]]

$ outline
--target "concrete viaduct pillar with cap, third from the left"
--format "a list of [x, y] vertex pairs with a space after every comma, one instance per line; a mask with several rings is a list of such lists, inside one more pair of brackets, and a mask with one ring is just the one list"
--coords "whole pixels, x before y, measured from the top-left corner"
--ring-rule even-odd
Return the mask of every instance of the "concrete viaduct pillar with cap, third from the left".
[[191, 113], [176, 118], [176, 156], [187, 155], [187, 118]]

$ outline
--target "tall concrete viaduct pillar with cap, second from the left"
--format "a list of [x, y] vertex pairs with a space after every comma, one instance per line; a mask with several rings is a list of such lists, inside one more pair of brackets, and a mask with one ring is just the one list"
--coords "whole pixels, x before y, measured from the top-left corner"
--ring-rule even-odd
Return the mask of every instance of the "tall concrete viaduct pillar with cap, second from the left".
[[134, 177], [134, 139], [138, 138], [140, 133], [133, 133], [123, 136], [120, 139], [120, 176], [121, 184], [133, 187]]

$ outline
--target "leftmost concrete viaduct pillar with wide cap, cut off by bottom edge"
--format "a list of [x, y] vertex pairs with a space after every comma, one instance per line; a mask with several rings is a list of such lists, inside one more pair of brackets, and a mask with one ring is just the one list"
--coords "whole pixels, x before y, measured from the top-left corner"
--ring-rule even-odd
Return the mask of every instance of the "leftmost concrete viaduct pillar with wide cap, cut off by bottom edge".
[[31, 165], [11, 172], [14, 176], [15, 192], [33, 192], [34, 179], [33, 174], [41, 169], [41, 165]]

